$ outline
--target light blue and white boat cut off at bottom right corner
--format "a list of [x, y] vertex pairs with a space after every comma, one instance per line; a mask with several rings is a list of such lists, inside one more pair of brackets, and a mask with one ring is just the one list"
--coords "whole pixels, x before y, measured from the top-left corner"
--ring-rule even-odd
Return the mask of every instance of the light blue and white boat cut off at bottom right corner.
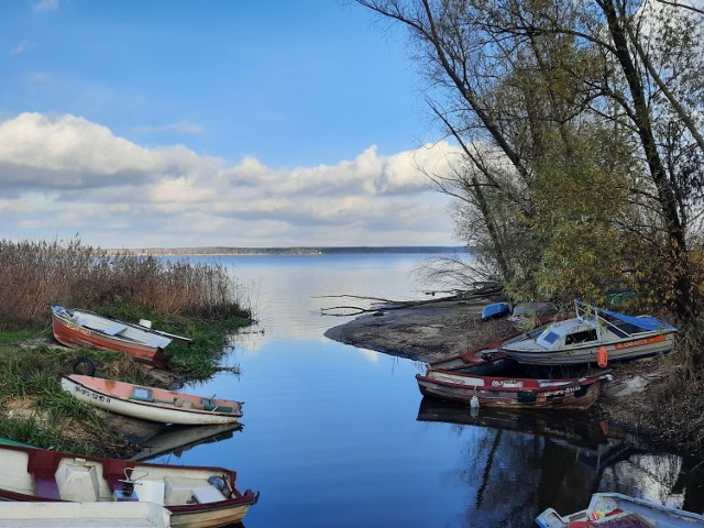
[[542, 528], [569, 526], [630, 526], [694, 528], [704, 526], [704, 515], [671, 508], [620, 493], [595, 493], [586, 509], [562, 517], [548, 508], [536, 519]]

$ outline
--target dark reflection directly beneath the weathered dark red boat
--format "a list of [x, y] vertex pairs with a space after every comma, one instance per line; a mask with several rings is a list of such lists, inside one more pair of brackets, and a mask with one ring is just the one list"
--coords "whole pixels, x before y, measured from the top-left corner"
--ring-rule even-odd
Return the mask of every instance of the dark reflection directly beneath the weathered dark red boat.
[[[575, 446], [595, 447], [608, 442], [606, 424], [588, 417], [565, 413], [520, 413], [504, 409], [480, 409], [474, 411], [465, 405], [424, 397], [418, 408], [418, 421], [441, 421], [492, 429], [531, 432], [563, 439]], [[616, 431], [612, 431], [612, 436]]]

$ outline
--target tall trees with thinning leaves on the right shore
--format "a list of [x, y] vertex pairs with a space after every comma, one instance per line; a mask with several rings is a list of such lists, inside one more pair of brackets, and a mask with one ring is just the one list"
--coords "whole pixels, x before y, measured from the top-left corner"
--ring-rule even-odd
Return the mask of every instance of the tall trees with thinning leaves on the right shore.
[[509, 286], [597, 297], [626, 279], [653, 305], [696, 314], [698, 13], [629, 0], [356, 1], [410, 30], [432, 110], [465, 154], [433, 180], [461, 198], [460, 231]]

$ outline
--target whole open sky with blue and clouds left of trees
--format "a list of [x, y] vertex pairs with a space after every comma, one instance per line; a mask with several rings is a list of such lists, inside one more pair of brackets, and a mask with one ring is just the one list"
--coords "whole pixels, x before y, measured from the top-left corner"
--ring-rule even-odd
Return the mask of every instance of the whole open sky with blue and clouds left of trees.
[[406, 35], [337, 0], [0, 7], [0, 238], [454, 244]]

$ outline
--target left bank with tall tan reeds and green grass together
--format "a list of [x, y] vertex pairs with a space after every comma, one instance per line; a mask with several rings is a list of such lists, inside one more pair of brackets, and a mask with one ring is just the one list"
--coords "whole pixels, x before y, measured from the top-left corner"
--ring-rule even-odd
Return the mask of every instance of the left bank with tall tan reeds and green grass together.
[[127, 446], [101, 414], [61, 388], [76, 358], [89, 358], [100, 377], [164, 383], [121, 353], [50, 345], [50, 305], [147, 319], [154, 329], [191, 338], [191, 345], [174, 341], [165, 350], [172, 374], [184, 381], [218, 372], [229, 336], [251, 323], [249, 293], [218, 264], [111, 254], [76, 238], [2, 240], [0, 267], [0, 436], [37, 447], [109, 454]]

